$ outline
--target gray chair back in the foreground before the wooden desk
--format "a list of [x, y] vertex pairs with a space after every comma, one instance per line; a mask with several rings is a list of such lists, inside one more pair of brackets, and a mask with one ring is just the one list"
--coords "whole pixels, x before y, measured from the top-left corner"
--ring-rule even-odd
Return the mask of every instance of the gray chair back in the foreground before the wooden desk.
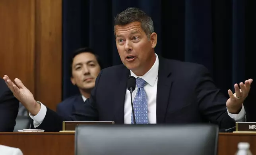
[[215, 125], [80, 125], [75, 155], [217, 155]]

